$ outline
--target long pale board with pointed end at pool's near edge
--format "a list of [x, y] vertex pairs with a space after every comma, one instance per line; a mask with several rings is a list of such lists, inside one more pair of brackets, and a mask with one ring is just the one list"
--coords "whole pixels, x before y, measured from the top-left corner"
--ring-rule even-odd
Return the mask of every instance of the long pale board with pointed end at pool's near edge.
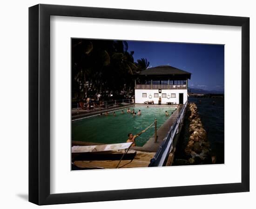
[[72, 153], [82, 153], [82, 152], [125, 150], [125, 149], [128, 149], [131, 145], [132, 145], [132, 142], [118, 143], [118, 144], [90, 145], [90, 146], [73, 146], [71, 148], [71, 151]]

